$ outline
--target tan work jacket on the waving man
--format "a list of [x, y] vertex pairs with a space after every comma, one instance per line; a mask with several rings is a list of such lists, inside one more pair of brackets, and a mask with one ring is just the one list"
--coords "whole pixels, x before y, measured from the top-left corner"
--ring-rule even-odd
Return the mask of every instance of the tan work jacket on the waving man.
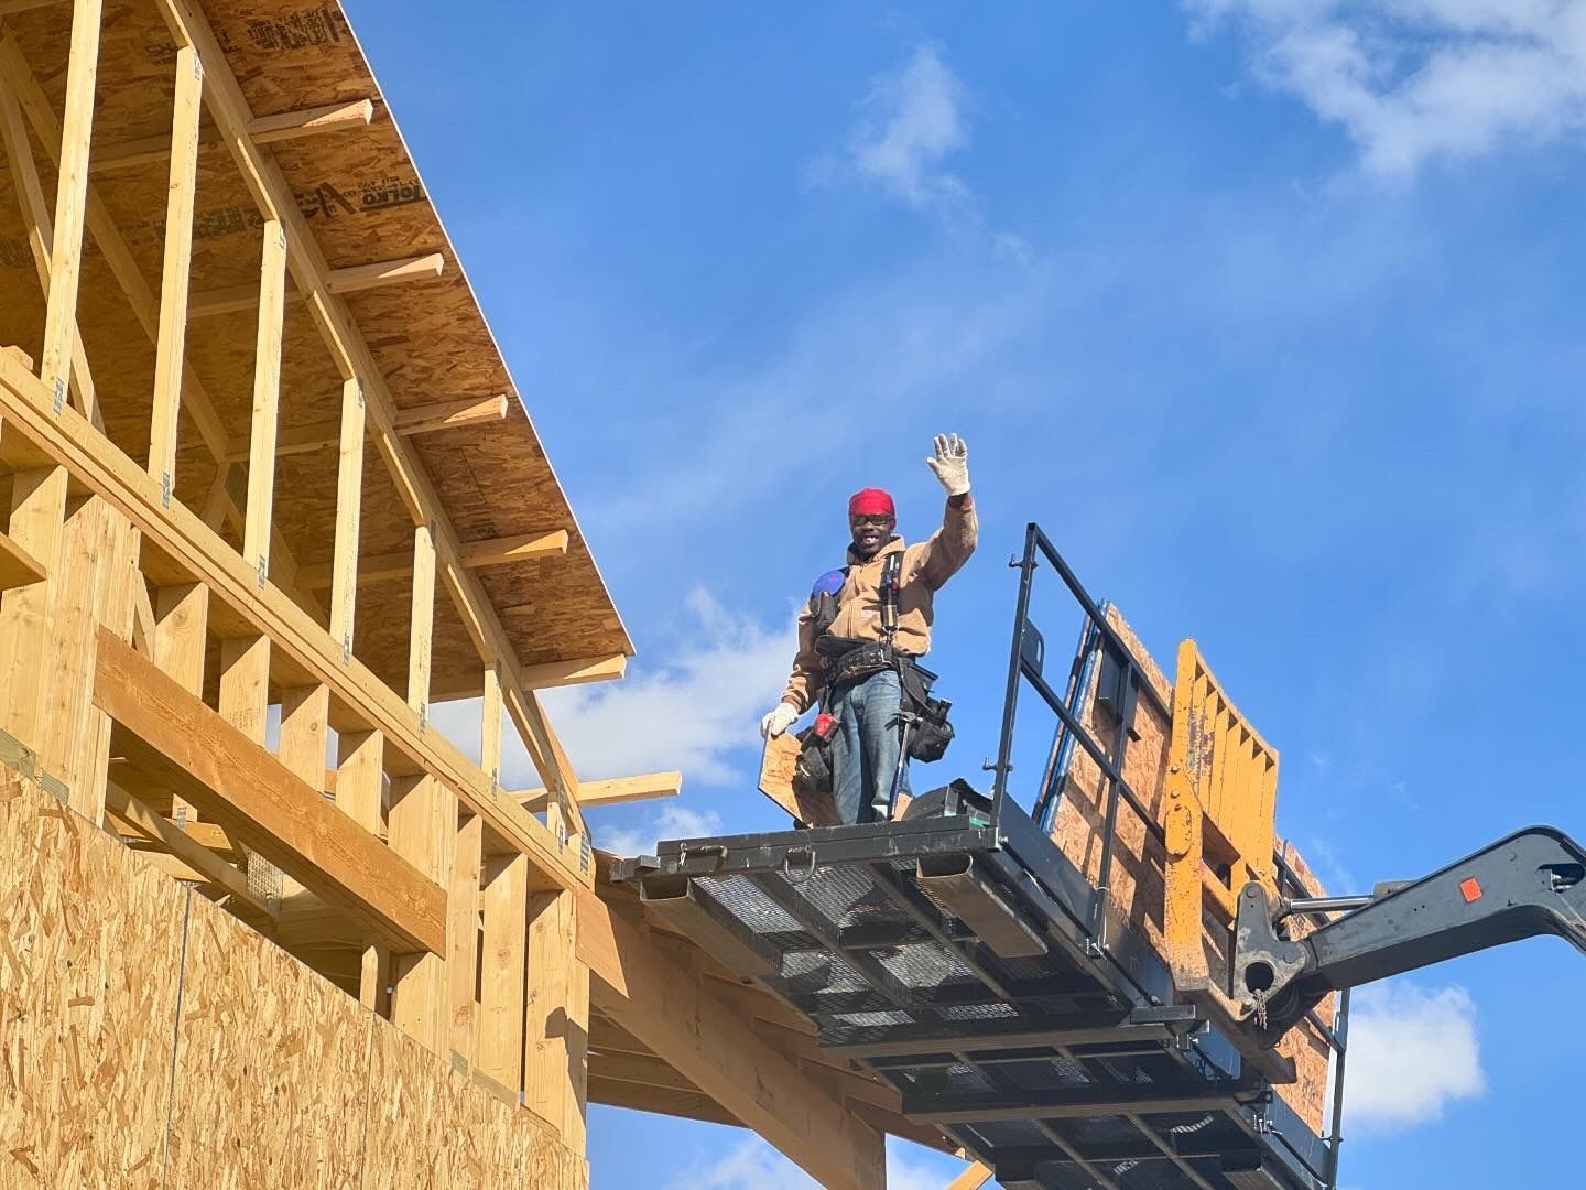
[[[972, 500], [963, 508], [947, 503], [942, 527], [918, 546], [895, 536], [869, 562], [861, 562], [849, 549], [849, 578], [837, 593], [837, 619], [826, 630], [831, 636], [856, 641], [882, 639], [882, 570], [888, 554], [902, 554], [898, 574], [898, 635], [893, 638], [904, 652], [921, 657], [931, 647], [931, 622], [936, 619], [936, 592], [963, 568], [975, 552], [980, 522]], [[825, 658], [815, 652], [814, 612], [806, 606], [798, 617], [798, 655], [782, 701], [801, 712], [814, 706], [826, 684]]]

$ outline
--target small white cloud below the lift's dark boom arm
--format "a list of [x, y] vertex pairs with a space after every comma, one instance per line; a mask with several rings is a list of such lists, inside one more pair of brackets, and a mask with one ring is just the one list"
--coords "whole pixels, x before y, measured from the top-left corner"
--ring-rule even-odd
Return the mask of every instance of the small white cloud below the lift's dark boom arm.
[[1343, 1107], [1348, 1127], [1394, 1131], [1429, 1123], [1486, 1090], [1477, 1009], [1462, 987], [1389, 982], [1354, 993]]

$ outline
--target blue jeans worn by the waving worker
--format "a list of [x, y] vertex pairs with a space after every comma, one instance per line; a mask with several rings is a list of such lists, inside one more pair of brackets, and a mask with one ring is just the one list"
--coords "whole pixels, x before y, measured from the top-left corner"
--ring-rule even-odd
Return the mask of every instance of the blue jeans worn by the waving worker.
[[[895, 670], [849, 682], [831, 700], [837, 735], [831, 741], [831, 782], [837, 822], [887, 822], [891, 817], [893, 781], [902, 730], [898, 711], [902, 687]], [[909, 792], [909, 758], [902, 758], [899, 792]]]

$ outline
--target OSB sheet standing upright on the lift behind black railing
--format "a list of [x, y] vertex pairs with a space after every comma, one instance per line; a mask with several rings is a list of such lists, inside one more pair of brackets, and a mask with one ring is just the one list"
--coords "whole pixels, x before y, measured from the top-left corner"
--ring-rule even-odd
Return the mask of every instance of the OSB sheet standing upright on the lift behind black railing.
[[[1161, 671], [1151, 655], [1140, 644], [1139, 636], [1129, 624], [1118, 614], [1117, 608], [1109, 608], [1107, 620], [1123, 638], [1124, 644], [1140, 662], [1147, 679], [1166, 706], [1172, 706], [1172, 684]], [[1098, 706], [1094, 690], [1083, 708], [1083, 722], [1091, 736], [1104, 747], [1110, 749], [1117, 733], [1117, 719]], [[1142, 695], [1134, 712], [1134, 731], [1139, 738], [1131, 738], [1123, 755], [1123, 779], [1151, 812], [1156, 822], [1163, 820], [1163, 785], [1167, 777], [1167, 746], [1172, 733], [1172, 720], [1163, 714], [1150, 698]], [[1102, 828], [1107, 811], [1107, 779], [1083, 749], [1074, 750], [1074, 763], [1069, 779], [1058, 804], [1053, 820], [1052, 838], [1063, 852], [1085, 873], [1086, 879], [1096, 882], [1101, 876]], [[1293, 846], [1285, 844], [1289, 863], [1308, 881], [1310, 887], [1321, 892], [1320, 882], [1299, 858]], [[1112, 895], [1118, 909], [1153, 947], [1163, 949], [1163, 898], [1164, 898], [1164, 862], [1163, 846], [1156, 841], [1145, 823], [1126, 803], [1118, 808], [1118, 831], [1113, 846]], [[1223, 995], [1229, 979], [1229, 947], [1231, 935], [1224, 925], [1207, 917], [1205, 952], [1213, 988], [1229, 1015], [1234, 1012], [1232, 1001]], [[1326, 1000], [1318, 1014], [1323, 1020], [1332, 1020], [1332, 1000]], [[1327, 1093], [1327, 1044], [1310, 1025], [1302, 1023], [1293, 1030], [1278, 1046], [1278, 1052], [1294, 1058], [1297, 1081], [1280, 1085], [1278, 1095], [1310, 1125], [1315, 1131], [1323, 1128]]]

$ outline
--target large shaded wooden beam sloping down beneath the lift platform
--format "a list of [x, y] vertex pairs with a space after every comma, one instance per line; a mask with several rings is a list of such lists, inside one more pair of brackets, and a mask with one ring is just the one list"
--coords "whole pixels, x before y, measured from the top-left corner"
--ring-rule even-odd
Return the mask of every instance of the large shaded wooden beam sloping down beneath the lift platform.
[[[780, 1149], [829, 1190], [883, 1190], [882, 1136], [755, 1036], [680, 963], [593, 895], [580, 895], [585, 930], [611, 938], [615, 969], [596, 974], [595, 1006], [665, 1058], [725, 1111]], [[603, 922], [585, 919], [603, 914]], [[609, 976], [609, 977], [606, 977]]]

